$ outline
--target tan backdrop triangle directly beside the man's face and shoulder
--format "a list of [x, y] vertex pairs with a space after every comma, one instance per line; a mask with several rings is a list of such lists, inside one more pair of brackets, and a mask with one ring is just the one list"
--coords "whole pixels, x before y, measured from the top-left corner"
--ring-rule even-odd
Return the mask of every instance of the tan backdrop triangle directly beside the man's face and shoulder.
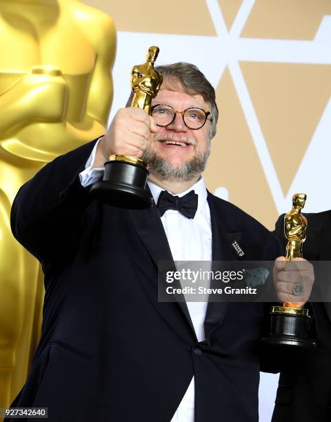
[[217, 87], [217, 104], [217, 135], [212, 139], [212, 154], [204, 174], [208, 189], [214, 192], [225, 186], [230, 202], [261, 223], [266, 219], [276, 221], [278, 212], [228, 69]]

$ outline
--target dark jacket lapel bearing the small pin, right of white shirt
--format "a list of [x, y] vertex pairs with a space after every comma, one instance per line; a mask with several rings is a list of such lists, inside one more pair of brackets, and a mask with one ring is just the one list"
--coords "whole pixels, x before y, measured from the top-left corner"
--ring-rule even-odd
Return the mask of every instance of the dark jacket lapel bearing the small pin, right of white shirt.
[[[234, 261], [239, 259], [239, 254], [234, 253], [232, 243], [241, 239], [241, 232], [232, 232], [226, 225], [226, 216], [223, 210], [217, 206], [217, 202], [210, 192], [208, 192], [208, 205], [210, 208], [210, 223], [212, 228], [212, 261]], [[215, 265], [212, 268], [216, 270]], [[217, 282], [210, 282], [210, 287], [219, 287]], [[212, 332], [222, 323], [227, 302], [208, 301], [205, 321], [203, 323], [205, 338], [208, 339]]]

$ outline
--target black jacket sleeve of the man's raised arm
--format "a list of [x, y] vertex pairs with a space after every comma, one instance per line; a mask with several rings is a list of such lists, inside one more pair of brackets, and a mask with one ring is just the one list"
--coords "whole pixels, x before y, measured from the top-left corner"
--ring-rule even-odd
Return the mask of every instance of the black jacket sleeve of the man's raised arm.
[[12, 205], [14, 237], [43, 266], [68, 257], [83, 232], [83, 217], [93, 201], [79, 181], [92, 141], [61, 155], [25, 183]]

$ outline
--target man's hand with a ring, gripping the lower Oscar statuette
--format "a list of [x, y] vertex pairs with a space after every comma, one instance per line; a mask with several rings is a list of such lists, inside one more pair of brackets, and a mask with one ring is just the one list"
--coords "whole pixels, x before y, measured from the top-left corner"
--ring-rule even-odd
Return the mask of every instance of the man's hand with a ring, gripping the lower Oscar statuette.
[[286, 261], [278, 257], [274, 261], [274, 286], [279, 301], [286, 302], [293, 308], [305, 304], [314, 284], [314, 268], [303, 258]]

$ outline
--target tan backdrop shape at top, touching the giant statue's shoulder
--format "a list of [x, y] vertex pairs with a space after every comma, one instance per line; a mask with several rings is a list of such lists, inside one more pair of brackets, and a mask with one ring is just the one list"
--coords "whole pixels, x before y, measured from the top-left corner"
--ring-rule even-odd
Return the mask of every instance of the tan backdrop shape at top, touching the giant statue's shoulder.
[[110, 14], [119, 31], [216, 35], [205, 0], [82, 2]]

